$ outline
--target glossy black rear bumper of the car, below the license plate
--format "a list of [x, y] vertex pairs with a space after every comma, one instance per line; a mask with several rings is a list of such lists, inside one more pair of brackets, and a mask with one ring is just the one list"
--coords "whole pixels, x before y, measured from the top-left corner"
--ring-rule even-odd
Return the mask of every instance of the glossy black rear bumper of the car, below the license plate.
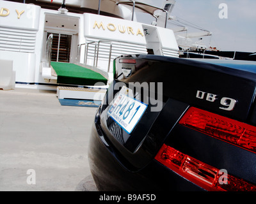
[[116, 149], [99, 131], [99, 126], [93, 126], [88, 152], [90, 169], [99, 191], [204, 191], [156, 159], [141, 170], [127, 169], [118, 159]]

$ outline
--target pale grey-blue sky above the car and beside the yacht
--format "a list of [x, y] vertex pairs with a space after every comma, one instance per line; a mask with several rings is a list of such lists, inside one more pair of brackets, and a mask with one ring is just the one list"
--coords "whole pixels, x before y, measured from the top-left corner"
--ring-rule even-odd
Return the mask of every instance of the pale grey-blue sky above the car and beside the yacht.
[[[142, 1], [157, 7], [162, 7], [164, 2]], [[224, 8], [223, 4], [227, 7]], [[212, 36], [204, 37], [203, 40], [207, 47], [216, 47], [222, 51], [256, 52], [255, 8], [255, 0], [176, 0], [171, 15], [210, 31]], [[154, 18], [138, 15], [138, 20], [151, 23]], [[167, 27], [172, 28], [172, 24], [168, 23]], [[188, 33], [200, 32], [188, 29]], [[194, 40], [198, 41], [196, 38]]]

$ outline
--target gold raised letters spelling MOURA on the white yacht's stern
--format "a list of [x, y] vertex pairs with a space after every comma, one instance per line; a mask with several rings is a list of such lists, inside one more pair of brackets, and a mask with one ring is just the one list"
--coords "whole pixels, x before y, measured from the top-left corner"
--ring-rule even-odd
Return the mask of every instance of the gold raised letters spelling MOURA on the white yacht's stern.
[[[104, 27], [104, 24], [103, 24], [102, 22], [100, 22], [100, 24], [99, 24], [99, 23], [97, 22], [97, 20], [95, 20], [94, 25], [93, 25], [93, 29], [95, 29], [96, 26], [98, 27], [98, 29], [102, 28], [102, 29], [105, 31], [105, 27]], [[117, 26], [118, 26], [118, 31], [119, 31], [120, 33], [125, 33], [125, 32], [127, 31], [128, 34], [132, 34], [132, 35], [135, 34], [134, 31], [133, 31], [133, 28], [130, 27], [130, 26], [127, 26], [127, 29], [125, 29], [125, 25], [120, 25], [120, 24], [118, 24]], [[115, 25], [115, 24], [112, 24], [112, 23], [109, 23], [109, 24], [107, 25], [107, 28], [108, 28], [109, 31], [117, 31], [117, 30], [116, 30], [116, 25]], [[138, 29], [136, 35], [138, 36], [139, 34], [140, 34], [141, 36], [144, 36], [144, 34], [143, 34], [143, 32], [141, 32], [140, 28]]]

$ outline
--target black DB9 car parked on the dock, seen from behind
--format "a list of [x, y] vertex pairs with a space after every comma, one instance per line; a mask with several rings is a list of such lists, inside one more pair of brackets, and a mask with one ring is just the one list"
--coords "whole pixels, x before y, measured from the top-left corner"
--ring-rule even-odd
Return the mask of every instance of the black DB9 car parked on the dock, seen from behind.
[[115, 69], [90, 138], [99, 191], [256, 190], [255, 62], [122, 55]]

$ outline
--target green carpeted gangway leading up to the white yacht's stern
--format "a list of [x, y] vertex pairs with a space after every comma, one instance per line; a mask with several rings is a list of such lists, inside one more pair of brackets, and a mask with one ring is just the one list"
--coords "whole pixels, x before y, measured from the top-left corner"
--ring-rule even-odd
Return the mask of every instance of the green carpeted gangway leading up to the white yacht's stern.
[[94, 85], [97, 82], [108, 83], [108, 80], [99, 73], [77, 64], [51, 62], [51, 66], [58, 75], [58, 84]]

